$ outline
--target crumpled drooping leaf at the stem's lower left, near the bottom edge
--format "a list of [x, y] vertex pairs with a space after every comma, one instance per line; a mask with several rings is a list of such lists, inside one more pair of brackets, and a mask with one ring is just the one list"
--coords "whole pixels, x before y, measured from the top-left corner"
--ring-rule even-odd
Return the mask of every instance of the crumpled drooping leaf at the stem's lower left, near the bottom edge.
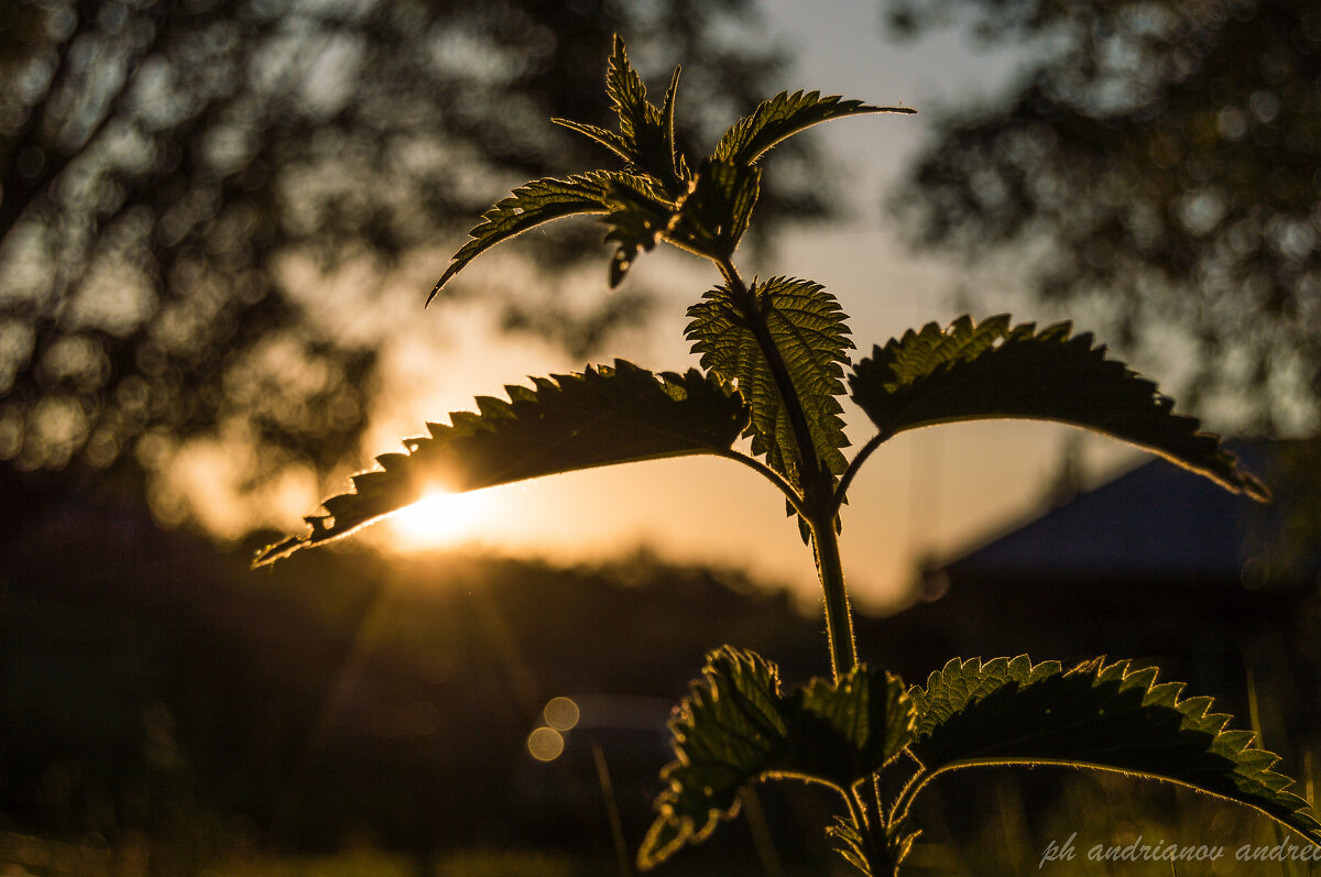
[[913, 704], [890, 674], [855, 667], [839, 685], [814, 680], [786, 696], [773, 663], [725, 646], [701, 675], [670, 721], [676, 761], [660, 774], [667, 786], [638, 852], [642, 869], [733, 818], [750, 782], [791, 777], [844, 790], [911, 736]]

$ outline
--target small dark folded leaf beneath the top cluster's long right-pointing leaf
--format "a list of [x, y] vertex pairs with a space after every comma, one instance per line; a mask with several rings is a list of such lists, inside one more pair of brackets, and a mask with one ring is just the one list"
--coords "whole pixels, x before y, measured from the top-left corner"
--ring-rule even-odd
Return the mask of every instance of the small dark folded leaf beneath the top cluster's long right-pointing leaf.
[[738, 247], [761, 193], [761, 168], [707, 161], [683, 198], [668, 238], [703, 256], [728, 259]]

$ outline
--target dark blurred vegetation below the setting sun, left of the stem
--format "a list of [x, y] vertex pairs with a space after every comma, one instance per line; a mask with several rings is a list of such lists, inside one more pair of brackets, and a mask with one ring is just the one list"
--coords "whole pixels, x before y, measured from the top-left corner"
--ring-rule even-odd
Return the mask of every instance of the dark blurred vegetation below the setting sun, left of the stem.
[[[151, 873], [354, 841], [609, 864], [589, 744], [641, 832], [668, 704], [723, 635], [680, 619], [827, 670], [819, 623], [738, 575], [332, 552], [254, 576], [127, 506], [5, 486], [24, 514], [0, 576], [0, 832], [147, 843]], [[528, 733], [565, 695], [581, 726], [538, 763]]]

